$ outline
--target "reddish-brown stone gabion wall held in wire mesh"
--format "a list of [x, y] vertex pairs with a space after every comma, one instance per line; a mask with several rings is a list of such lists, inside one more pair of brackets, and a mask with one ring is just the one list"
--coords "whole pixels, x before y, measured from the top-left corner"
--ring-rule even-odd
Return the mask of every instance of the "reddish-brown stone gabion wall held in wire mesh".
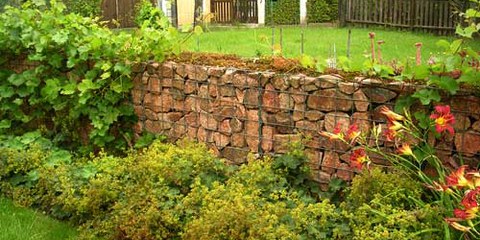
[[[275, 74], [167, 62], [135, 67], [132, 92], [139, 116], [136, 132], [166, 134], [171, 140], [192, 138], [235, 164], [248, 153], [280, 154], [285, 144], [306, 138], [306, 152], [314, 177], [349, 180], [349, 147], [331, 143], [319, 131], [332, 131], [337, 122], [357, 123], [368, 131], [382, 124], [383, 105], [414, 90], [403, 83], [383, 84], [339, 76]], [[468, 92], [454, 99], [456, 135], [432, 143], [446, 162], [462, 157], [476, 165], [480, 152], [480, 99]], [[381, 161], [381, 160], [377, 160]]]

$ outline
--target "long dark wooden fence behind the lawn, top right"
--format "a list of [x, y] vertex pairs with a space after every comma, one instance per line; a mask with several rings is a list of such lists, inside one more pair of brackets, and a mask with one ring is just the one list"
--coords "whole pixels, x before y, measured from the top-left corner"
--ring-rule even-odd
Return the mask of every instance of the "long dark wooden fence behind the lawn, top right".
[[341, 25], [382, 25], [448, 34], [460, 20], [448, 0], [340, 0]]

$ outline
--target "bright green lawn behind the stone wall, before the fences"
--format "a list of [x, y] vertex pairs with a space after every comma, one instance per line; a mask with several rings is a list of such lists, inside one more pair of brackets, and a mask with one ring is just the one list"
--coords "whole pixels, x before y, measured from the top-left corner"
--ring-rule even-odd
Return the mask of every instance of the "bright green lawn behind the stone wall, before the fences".
[[[346, 56], [348, 28], [336, 27], [283, 27], [283, 56], [294, 58], [301, 55], [301, 32], [304, 31], [304, 53], [317, 59], [326, 59], [333, 56], [335, 45], [337, 56]], [[426, 33], [410, 31], [387, 30], [383, 28], [351, 29], [350, 56], [353, 62], [363, 63], [370, 52], [369, 32], [375, 32], [375, 41], [384, 40], [382, 45], [383, 59], [405, 61], [414, 59], [415, 43], [422, 42], [424, 60], [431, 54], [442, 49], [436, 46], [440, 39], [452, 40], [453, 37], [434, 36]], [[280, 30], [275, 28], [275, 43], [279, 43]], [[198, 38], [198, 44], [197, 44]], [[231, 53], [243, 57], [255, 57], [272, 54], [272, 28], [211, 28], [202, 35], [192, 37], [186, 43], [190, 51]], [[470, 43], [480, 50], [480, 41]]]

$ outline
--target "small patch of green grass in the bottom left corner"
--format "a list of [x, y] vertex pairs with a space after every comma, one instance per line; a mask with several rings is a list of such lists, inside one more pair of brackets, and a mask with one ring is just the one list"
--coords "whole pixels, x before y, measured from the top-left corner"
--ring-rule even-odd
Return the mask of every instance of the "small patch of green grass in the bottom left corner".
[[0, 197], [0, 240], [57, 240], [76, 236], [73, 227]]

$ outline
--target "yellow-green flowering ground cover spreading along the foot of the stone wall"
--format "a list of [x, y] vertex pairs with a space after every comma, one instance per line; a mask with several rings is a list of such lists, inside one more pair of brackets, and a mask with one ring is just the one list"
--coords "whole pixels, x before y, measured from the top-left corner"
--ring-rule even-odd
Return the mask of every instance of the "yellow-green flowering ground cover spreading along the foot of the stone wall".
[[1, 194], [77, 224], [84, 239], [438, 239], [442, 224], [398, 172], [362, 173], [341, 204], [309, 191], [291, 176], [308, 172], [298, 145], [233, 167], [188, 141], [77, 158], [38, 134], [3, 140]]

